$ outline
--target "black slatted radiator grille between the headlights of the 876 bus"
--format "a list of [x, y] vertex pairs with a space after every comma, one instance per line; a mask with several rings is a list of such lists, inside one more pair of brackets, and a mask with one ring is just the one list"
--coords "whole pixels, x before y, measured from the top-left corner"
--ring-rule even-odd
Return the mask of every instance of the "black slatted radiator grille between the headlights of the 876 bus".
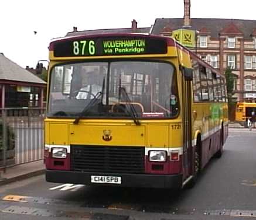
[[71, 169], [81, 172], [145, 173], [145, 148], [71, 145]]

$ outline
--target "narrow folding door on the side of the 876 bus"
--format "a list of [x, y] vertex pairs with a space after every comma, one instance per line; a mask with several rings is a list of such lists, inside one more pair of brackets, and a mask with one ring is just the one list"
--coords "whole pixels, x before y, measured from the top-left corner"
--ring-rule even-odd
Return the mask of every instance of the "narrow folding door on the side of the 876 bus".
[[192, 174], [192, 92], [191, 81], [182, 76], [183, 178]]

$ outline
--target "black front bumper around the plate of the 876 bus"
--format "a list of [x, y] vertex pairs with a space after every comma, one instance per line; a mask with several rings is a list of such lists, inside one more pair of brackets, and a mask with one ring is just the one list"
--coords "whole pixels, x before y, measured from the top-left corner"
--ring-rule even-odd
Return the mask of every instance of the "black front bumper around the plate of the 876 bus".
[[[121, 184], [91, 183], [91, 176], [118, 176]], [[46, 181], [53, 183], [73, 183], [93, 186], [121, 186], [146, 188], [181, 188], [182, 174], [127, 174], [127, 173], [91, 173], [67, 170], [46, 170]]]

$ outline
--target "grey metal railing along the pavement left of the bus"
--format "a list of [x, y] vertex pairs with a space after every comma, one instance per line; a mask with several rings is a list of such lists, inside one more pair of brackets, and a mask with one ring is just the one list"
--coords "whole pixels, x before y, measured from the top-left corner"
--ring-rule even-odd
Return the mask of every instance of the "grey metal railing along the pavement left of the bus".
[[0, 167], [43, 159], [44, 108], [0, 109]]

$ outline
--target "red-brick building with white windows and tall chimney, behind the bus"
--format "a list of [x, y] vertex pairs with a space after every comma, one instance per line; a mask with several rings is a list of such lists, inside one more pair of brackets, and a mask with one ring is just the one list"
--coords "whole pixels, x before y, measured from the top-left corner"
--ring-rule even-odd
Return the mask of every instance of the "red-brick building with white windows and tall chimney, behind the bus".
[[190, 18], [190, 0], [184, 4], [183, 19], [156, 19], [151, 34], [194, 30], [196, 46], [190, 49], [221, 72], [233, 70], [234, 100], [256, 102], [256, 20]]

